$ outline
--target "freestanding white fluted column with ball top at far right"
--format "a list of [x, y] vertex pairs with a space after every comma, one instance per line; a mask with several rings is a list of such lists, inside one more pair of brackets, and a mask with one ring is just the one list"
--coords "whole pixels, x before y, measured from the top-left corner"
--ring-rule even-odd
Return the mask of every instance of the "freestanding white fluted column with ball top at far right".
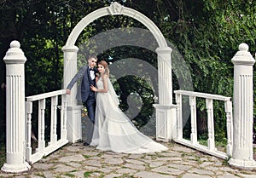
[[234, 136], [230, 165], [256, 168], [253, 160], [253, 64], [248, 45], [241, 43], [233, 57], [234, 64]]

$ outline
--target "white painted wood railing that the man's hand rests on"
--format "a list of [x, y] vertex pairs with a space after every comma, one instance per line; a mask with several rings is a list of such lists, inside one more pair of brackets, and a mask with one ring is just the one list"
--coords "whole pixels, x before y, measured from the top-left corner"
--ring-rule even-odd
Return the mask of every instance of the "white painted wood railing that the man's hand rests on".
[[[58, 96], [61, 95], [61, 106], [58, 106]], [[50, 118], [44, 118], [46, 99], [50, 98]], [[32, 153], [32, 103], [38, 101], [38, 147]], [[57, 110], [61, 109], [61, 138], [57, 140]], [[50, 141], [46, 146], [44, 139], [45, 119], [50, 119]], [[61, 89], [40, 95], [26, 97], [26, 161], [35, 163], [44, 156], [67, 144], [67, 95], [66, 90]]]

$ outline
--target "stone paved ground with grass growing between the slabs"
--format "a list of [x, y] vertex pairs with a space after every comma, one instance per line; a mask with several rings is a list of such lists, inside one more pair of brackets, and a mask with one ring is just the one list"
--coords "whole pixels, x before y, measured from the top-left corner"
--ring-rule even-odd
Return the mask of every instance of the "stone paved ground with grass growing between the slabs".
[[173, 142], [164, 145], [169, 147], [166, 152], [116, 154], [76, 143], [63, 146], [32, 164], [32, 169], [26, 173], [0, 172], [0, 177], [256, 178], [256, 169], [232, 168], [223, 159]]

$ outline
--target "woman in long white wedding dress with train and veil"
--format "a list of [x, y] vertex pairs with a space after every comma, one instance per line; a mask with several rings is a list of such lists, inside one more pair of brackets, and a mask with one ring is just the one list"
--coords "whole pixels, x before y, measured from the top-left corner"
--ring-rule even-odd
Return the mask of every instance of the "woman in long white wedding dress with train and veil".
[[119, 109], [119, 100], [110, 82], [108, 63], [98, 63], [100, 76], [96, 78], [95, 127], [90, 146], [102, 151], [144, 153], [166, 151], [166, 146], [143, 135], [125, 113]]

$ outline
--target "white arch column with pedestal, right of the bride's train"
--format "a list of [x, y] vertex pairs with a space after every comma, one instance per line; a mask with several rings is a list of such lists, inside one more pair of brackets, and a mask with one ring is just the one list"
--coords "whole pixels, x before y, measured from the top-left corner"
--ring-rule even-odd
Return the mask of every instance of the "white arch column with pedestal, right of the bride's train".
[[171, 141], [176, 135], [177, 106], [172, 105], [172, 49], [156, 49], [158, 55], [159, 104], [156, 109], [156, 140]]

